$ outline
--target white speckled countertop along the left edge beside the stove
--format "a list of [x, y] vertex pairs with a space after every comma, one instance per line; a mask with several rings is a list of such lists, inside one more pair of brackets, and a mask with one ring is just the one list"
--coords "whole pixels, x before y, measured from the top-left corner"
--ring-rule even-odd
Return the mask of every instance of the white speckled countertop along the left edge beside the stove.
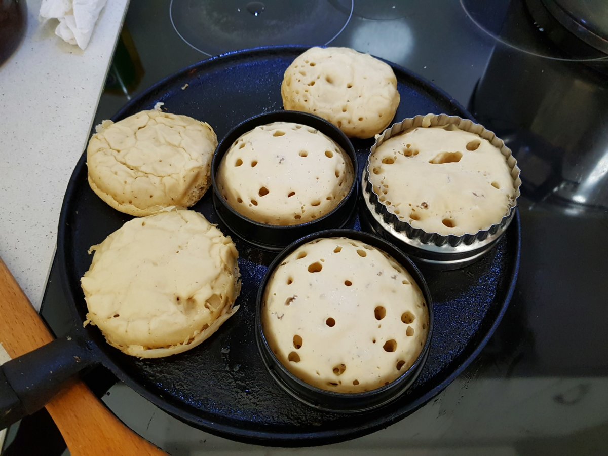
[[108, 0], [89, 46], [55, 36], [28, 0], [27, 32], [0, 65], [0, 257], [36, 309], [67, 181], [85, 148], [128, 0]]

